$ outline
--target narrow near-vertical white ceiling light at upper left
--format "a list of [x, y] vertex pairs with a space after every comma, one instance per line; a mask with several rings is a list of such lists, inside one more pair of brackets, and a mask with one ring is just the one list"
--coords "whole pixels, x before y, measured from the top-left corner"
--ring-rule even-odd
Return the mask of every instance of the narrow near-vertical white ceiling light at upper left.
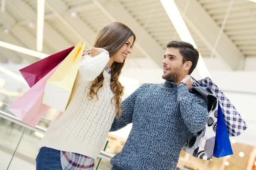
[[45, 6], [45, 0], [38, 0], [36, 49], [39, 52], [43, 50], [44, 6]]

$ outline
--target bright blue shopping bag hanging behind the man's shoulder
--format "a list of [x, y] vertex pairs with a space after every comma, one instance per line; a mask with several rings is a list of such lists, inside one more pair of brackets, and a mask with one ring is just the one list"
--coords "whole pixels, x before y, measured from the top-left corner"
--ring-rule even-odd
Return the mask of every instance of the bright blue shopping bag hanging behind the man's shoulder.
[[220, 158], [232, 154], [233, 151], [230, 144], [229, 135], [227, 133], [227, 127], [223, 118], [221, 106], [218, 104], [218, 121], [213, 156]]

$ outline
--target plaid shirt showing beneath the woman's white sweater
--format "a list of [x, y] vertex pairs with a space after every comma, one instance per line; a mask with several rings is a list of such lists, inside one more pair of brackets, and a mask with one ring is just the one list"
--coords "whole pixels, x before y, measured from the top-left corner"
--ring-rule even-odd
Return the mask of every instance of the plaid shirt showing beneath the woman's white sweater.
[[[111, 69], [106, 65], [105, 71], [111, 73]], [[38, 153], [41, 148], [39, 148]], [[93, 170], [94, 159], [85, 155], [73, 152], [61, 151], [61, 166], [63, 170]]]

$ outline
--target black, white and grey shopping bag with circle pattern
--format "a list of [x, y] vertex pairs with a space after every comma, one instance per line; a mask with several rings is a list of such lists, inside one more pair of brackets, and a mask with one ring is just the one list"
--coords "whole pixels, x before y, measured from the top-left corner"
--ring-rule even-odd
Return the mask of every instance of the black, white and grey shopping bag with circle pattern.
[[209, 86], [193, 86], [192, 91], [201, 94], [207, 101], [209, 119], [204, 129], [189, 135], [183, 151], [199, 159], [212, 160], [217, 126], [218, 99]]

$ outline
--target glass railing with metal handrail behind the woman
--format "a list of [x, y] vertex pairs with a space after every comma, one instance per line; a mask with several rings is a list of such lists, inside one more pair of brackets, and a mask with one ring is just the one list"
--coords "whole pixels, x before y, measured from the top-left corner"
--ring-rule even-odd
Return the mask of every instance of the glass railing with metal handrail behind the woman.
[[[0, 111], [0, 170], [35, 170], [38, 145], [45, 131], [46, 128], [31, 127], [11, 113]], [[104, 152], [108, 143], [106, 141], [95, 160], [95, 170], [110, 170], [112, 167], [109, 160], [113, 156]]]

